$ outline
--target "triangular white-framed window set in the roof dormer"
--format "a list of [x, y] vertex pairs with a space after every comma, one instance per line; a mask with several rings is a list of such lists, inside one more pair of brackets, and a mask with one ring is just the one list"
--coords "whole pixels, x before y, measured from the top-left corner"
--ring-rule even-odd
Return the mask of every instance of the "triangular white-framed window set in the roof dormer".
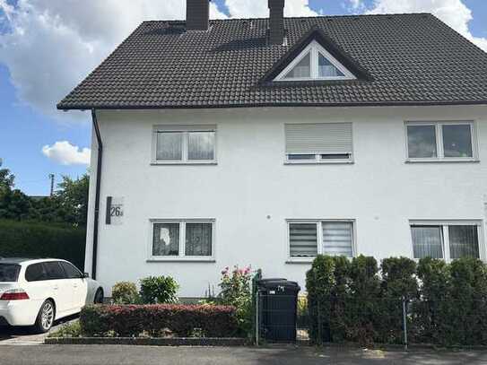
[[344, 65], [313, 40], [274, 81], [355, 79], [356, 77]]

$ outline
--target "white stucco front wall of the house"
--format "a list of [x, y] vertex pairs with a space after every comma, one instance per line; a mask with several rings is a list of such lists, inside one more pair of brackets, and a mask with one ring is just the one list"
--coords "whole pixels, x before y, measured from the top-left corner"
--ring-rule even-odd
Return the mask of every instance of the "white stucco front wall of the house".
[[[485, 219], [486, 116], [487, 107], [99, 111], [97, 279], [109, 294], [114, 282], [169, 274], [181, 296], [197, 297], [238, 264], [304, 288], [309, 264], [286, 264], [286, 219], [353, 219], [359, 254], [412, 257], [409, 220]], [[480, 162], [405, 163], [404, 120], [474, 120]], [[285, 165], [284, 123], [326, 121], [352, 121], [354, 163]], [[165, 123], [216, 124], [218, 164], [152, 166], [152, 126]], [[96, 158], [93, 140], [86, 271]], [[122, 225], [105, 224], [107, 196], [124, 197]], [[146, 262], [156, 218], [214, 218], [216, 262]]]

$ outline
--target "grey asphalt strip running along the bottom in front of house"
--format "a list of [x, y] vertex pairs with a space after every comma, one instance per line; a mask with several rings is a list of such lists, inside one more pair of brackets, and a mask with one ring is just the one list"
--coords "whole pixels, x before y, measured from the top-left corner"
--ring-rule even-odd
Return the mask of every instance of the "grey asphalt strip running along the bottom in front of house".
[[381, 352], [337, 348], [279, 346], [153, 347], [117, 345], [39, 345], [0, 348], [0, 363], [36, 365], [369, 365], [486, 364], [487, 352]]

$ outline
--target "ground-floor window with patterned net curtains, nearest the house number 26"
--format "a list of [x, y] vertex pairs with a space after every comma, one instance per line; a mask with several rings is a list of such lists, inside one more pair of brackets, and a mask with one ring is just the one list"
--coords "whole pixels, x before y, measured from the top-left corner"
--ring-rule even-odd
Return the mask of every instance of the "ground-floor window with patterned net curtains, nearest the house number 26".
[[152, 259], [213, 257], [213, 225], [208, 221], [152, 221]]

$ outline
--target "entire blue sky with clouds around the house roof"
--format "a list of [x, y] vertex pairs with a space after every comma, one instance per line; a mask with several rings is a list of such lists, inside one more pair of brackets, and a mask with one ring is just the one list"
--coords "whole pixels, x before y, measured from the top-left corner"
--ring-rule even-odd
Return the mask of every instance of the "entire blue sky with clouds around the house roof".
[[[30, 196], [89, 169], [91, 116], [56, 104], [144, 20], [185, 0], [0, 0], [0, 159]], [[266, 0], [213, 0], [212, 18], [268, 16]], [[485, 0], [286, 0], [286, 16], [433, 13], [487, 51]]]

